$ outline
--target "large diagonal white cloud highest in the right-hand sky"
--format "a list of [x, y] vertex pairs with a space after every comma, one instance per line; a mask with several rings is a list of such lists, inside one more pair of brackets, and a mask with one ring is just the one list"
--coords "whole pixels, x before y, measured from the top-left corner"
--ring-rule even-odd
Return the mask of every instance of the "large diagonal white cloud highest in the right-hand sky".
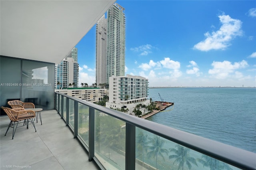
[[218, 16], [222, 26], [216, 32], [206, 32], [204, 36], [205, 40], [194, 45], [194, 49], [200, 51], [209, 51], [211, 49], [226, 49], [230, 44], [230, 41], [236, 36], [242, 36], [242, 22], [231, 18], [229, 15]]

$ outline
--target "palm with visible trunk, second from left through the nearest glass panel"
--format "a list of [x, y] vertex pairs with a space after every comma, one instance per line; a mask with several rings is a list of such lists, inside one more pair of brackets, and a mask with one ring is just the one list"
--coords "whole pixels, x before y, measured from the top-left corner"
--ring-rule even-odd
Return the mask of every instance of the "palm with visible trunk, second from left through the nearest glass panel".
[[147, 153], [147, 156], [148, 158], [152, 158], [152, 157], [156, 158], [156, 170], [158, 170], [158, 167], [157, 167], [158, 155], [164, 159], [163, 153], [168, 154], [168, 150], [163, 148], [165, 141], [163, 139], [160, 139], [160, 136], [154, 136], [154, 138], [149, 138], [149, 139], [150, 141], [148, 141], [147, 143], [151, 145], [146, 146], [148, 150], [150, 150]]

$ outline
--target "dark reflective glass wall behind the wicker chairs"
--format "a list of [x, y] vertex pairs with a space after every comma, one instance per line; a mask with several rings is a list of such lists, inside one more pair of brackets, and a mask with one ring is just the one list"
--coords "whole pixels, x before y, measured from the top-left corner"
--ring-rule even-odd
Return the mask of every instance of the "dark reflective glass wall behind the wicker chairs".
[[16, 99], [54, 109], [54, 63], [1, 56], [0, 65], [1, 106]]

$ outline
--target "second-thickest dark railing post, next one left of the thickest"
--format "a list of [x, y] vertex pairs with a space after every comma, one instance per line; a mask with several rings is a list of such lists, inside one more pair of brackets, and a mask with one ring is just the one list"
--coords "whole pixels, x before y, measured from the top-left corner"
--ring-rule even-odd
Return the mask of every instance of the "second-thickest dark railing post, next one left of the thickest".
[[94, 157], [95, 110], [89, 107], [89, 161]]

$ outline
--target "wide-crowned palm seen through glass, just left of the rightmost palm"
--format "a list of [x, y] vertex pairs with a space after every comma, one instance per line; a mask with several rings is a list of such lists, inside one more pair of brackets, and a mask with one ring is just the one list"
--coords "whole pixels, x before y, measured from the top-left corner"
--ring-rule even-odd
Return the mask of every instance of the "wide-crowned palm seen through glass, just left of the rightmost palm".
[[[177, 149], [176, 149], [177, 148]], [[196, 164], [196, 159], [191, 157], [189, 154], [190, 148], [186, 148], [184, 146], [181, 146], [179, 144], [176, 145], [176, 148], [170, 148], [170, 152], [174, 152], [174, 155], [170, 155], [169, 159], [175, 158], [173, 164], [175, 162], [179, 163], [178, 170], [184, 169], [184, 164], [188, 166], [188, 169], [191, 169], [192, 164]]]

